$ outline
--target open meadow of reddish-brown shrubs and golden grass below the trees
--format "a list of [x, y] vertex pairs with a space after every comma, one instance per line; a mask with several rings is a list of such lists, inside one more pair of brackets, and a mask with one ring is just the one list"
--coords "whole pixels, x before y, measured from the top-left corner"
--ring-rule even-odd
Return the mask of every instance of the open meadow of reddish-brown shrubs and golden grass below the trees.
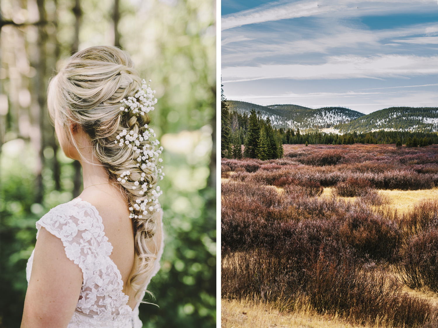
[[438, 146], [222, 159], [223, 327], [437, 327]]

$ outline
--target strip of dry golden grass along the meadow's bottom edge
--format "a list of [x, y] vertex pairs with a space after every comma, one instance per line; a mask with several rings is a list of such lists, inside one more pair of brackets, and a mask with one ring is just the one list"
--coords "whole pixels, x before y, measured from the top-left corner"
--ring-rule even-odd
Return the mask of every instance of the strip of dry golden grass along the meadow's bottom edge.
[[374, 328], [380, 325], [353, 325], [332, 315], [318, 315], [310, 308], [280, 312], [264, 303], [247, 300], [222, 300], [222, 328]]

